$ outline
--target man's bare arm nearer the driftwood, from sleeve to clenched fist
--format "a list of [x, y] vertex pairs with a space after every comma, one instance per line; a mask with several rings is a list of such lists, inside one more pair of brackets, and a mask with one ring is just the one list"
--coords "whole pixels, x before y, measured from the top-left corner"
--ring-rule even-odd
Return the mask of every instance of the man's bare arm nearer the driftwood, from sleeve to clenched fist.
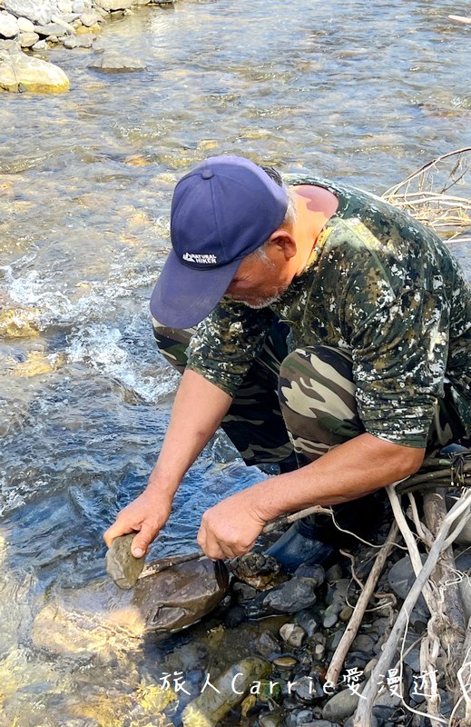
[[198, 543], [211, 558], [246, 553], [269, 520], [374, 493], [417, 472], [424, 453], [359, 434], [295, 472], [271, 477], [211, 507], [202, 517]]

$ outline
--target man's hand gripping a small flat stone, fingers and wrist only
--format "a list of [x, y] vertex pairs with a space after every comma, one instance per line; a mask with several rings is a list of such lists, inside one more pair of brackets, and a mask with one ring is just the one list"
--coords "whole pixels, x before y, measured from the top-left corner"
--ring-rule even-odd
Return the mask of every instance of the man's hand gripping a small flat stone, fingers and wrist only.
[[114, 538], [138, 531], [132, 541], [131, 552], [134, 558], [141, 558], [169, 519], [171, 510], [172, 499], [144, 490], [118, 513], [116, 522], [103, 535], [104, 542], [110, 547]]

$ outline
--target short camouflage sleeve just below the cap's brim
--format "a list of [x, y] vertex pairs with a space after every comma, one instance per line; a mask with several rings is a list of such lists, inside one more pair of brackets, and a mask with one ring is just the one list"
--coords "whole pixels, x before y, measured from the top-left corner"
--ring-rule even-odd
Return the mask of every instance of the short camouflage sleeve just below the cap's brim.
[[187, 350], [187, 368], [234, 396], [260, 355], [270, 327], [270, 311], [227, 299], [198, 325]]

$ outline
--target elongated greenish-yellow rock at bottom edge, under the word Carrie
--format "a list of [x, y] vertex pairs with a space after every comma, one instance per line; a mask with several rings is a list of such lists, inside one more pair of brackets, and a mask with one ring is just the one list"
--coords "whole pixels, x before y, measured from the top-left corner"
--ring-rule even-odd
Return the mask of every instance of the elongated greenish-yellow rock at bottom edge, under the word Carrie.
[[182, 712], [183, 727], [214, 727], [232, 707], [243, 700], [251, 687], [256, 689], [257, 682], [260, 687], [261, 680], [270, 671], [270, 663], [256, 656], [233, 664], [214, 682], [214, 687], [220, 693], [207, 689], [187, 704]]

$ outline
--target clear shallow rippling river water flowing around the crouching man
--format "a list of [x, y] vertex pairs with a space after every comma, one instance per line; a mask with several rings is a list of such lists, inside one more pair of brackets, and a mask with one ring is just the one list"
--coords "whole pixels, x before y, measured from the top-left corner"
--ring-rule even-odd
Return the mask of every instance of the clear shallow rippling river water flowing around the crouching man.
[[[172, 188], [233, 153], [380, 194], [469, 144], [457, 10], [182, 0], [103, 27], [101, 47], [141, 73], [58, 48], [70, 94], [0, 96], [1, 727], [161, 724], [163, 672], [194, 683], [214, 654], [239, 654], [217, 630], [161, 643], [109, 621], [127, 602], [104, 577], [102, 533], [142, 491], [177, 383], [148, 312]], [[154, 557], [193, 549], [201, 513], [263, 476], [227, 449], [211, 443], [185, 478]]]

